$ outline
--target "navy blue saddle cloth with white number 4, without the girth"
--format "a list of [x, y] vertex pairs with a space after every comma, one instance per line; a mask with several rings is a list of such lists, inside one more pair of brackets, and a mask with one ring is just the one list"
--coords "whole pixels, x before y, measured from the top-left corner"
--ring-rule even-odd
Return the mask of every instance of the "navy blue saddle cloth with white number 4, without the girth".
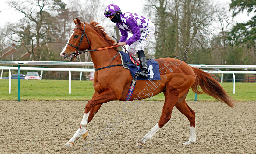
[[[129, 57], [129, 54], [127, 53], [124, 53], [122, 51], [119, 51], [120, 54], [123, 55], [123, 58], [124, 58], [124, 63], [127, 63], [127, 62], [131, 62], [130, 60], [130, 57]], [[148, 78], [143, 78], [143, 77], [137, 77], [137, 80], [160, 80], [160, 72], [158, 71], [159, 70], [159, 65], [158, 63], [154, 60], [154, 59], [147, 59], [147, 64], [148, 64]], [[130, 72], [131, 72], [131, 75], [134, 77], [135, 73], [138, 71], [140, 72], [140, 67], [136, 67], [133, 63], [132, 64], [127, 64]]]

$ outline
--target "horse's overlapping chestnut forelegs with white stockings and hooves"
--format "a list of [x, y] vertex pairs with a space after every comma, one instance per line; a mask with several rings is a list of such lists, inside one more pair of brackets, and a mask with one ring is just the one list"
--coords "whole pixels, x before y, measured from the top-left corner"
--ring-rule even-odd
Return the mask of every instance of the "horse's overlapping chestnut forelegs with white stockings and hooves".
[[116, 95], [111, 88], [105, 90], [100, 94], [97, 94], [97, 96], [96, 93], [94, 93], [93, 98], [89, 100], [85, 106], [84, 116], [80, 123], [80, 127], [78, 128], [74, 136], [66, 143], [66, 146], [74, 145], [74, 142], [79, 139], [81, 135], [84, 139], [86, 139], [88, 136], [88, 130], [86, 129], [88, 122], [90, 122], [94, 115], [98, 112], [101, 104], [112, 100], [116, 100]]

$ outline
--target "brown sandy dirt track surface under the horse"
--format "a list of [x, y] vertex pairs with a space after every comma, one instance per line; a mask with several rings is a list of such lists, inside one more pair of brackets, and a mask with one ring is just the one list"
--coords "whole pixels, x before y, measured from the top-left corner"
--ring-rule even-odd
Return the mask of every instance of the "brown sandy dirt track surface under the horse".
[[[126, 113], [124, 102], [112, 101], [88, 124], [86, 140], [81, 137], [74, 146], [64, 146], [79, 128], [86, 103], [0, 101], [0, 153], [256, 153], [255, 101], [234, 109], [220, 102], [187, 102], [196, 112], [197, 137], [187, 146], [182, 143], [190, 137], [189, 121], [174, 107], [171, 120], [144, 147], [135, 145], [158, 122], [163, 102], [144, 101]], [[102, 133], [104, 141], [99, 143], [96, 135], [117, 115], [123, 121], [108, 129], [109, 135]]]

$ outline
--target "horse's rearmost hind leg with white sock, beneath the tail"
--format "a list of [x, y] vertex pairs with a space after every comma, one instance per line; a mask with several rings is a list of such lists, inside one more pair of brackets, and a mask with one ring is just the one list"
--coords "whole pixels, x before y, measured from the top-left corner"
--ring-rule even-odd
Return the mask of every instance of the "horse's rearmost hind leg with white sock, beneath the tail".
[[183, 145], [190, 145], [196, 142], [195, 112], [187, 105], [185, 101], [187, 93], [181, 96], [175, 104], [175, 107], [188, 118], [190, 123], [190, 138], [188, 142], [183, 143]]

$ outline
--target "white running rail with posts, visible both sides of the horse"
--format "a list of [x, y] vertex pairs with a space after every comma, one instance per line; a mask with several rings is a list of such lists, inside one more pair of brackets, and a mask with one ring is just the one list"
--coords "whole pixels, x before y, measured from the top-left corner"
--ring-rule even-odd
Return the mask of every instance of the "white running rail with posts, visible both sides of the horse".
[[[36, 68], [36, 67], [21, 67], [20, 65], [66, 65], [66, 66], [94, 66], [92, 62], [59, 62], [59, 61], [0, 61], [0, 65], [18, 65], [18, 67], [0, 67], [3, 70], [9, 70], [9, 76], [11, 76], [11, 69], [18, 70], [18, 101], [20, 101], [20, 69], [21, 70], [37, 70], [41, 71], [41, 77], [43, 71], [69, 71], [69, 94], [71, 93], [71, 71], [81, 72], [94, 72], [94, 69], [86, 68]], [[233, 69], [256, 69], [256, 65], [194, 65], [190, 66], [195, 68], [233, 68]], [[205, 71], [208, 72], [208, 71]], [[233, 74], [234, 85], [233, 94], [235, 94], [235, 74], [256, 74], [256, 71], [210, 71], [211, 74], [221, 74], [221, 83], [223, 81], [223, 74]], [[11, 93], [11, 78], [9, 77], [9, 94]], [[196, 100], [196, 95], [195, 95]]]

